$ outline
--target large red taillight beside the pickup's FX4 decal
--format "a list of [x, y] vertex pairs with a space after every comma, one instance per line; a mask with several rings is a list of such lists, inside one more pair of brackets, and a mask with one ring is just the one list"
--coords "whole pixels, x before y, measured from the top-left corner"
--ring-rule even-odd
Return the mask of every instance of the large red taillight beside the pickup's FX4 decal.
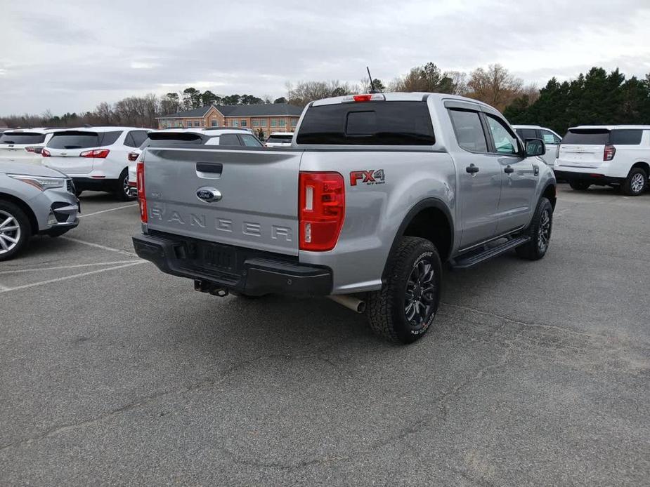
[[298, 185], [299, 248], [331, 251], [337, 244], [345, 218], [343, 176], [301, 172]]

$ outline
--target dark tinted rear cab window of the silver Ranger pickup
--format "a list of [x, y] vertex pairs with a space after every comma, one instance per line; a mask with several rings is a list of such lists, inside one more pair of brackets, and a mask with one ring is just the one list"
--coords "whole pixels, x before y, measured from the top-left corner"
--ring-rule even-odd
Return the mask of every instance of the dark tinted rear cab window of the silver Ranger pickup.
[[[267, 142], [272, 140], [273, 135]], [[313, 145], [434, 145], [427, 102], [370, 101], [310, 107], [296, 138]]]

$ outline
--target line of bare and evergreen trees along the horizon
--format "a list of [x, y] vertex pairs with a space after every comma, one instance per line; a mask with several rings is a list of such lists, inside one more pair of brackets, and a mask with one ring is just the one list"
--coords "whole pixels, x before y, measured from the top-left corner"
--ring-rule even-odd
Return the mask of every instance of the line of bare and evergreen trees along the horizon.
[[[618, 69], [607, 73], [593, 67], [587, 74], [560, 83], [550, 79], [541, 90], [524, 81], [502, 65], [479, 67], [465, 73], [442, 71], [433, 62], [412, 67], [408, 73], [391, 81], [372, 79], [375, 91], [433, 92], [463, 95], [492, 105], [504, 112], [512, 124], [535, 124], [558, 133], [578, 124], [650, 124], [650, 74], [645, 79], [625, 75]], [[53, 115], [25, 114], [5, 116], [10, 127], [71, 127], [124, 125], [156, 127], [156, 117], [207, 105], [254, 105], [259, 103], [291, 103], [304, 107], [312, 100], [331, 96], [368, 93], [370, 79], [358, 84], [330, 81], [287, 81], [286, 96], [216, 95], [189, 87], [178, 93], [162, 96], [148, 94], [131, 96], [115, 103], [102, 102], [93, 111]]]

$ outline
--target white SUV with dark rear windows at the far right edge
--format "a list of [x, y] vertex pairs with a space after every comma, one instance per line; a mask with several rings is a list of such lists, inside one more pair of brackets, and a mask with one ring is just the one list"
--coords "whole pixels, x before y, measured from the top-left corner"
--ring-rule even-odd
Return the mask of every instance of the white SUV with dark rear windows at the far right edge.
[[650, 175], [650, 126], [569, 128], [559, 146], [555, 175], [573, 189], [609, 185], [639, 196]]

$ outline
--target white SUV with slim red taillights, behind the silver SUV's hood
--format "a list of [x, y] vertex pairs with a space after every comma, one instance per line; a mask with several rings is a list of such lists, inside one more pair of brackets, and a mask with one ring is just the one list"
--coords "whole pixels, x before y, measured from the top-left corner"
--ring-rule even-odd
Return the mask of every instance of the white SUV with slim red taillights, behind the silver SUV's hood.
[[74, 180], [77, 194], [84, 189], [108, 191], [119, 199], [133, 199], [129, 191], [129, 152], [147, 138], [145, 128], [92, 127], [57, 131], [41, 152], [44, 166]]

